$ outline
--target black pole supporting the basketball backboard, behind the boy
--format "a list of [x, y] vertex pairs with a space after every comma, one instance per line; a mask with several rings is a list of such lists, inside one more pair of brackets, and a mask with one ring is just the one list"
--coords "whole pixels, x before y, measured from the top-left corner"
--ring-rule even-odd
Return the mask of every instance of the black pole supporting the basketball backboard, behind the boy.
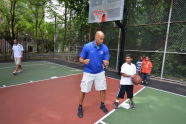
[[118, 74], [120, 75], [121, 66], [124, 61], [124, 49], [125, 49], [125, 33], [126, 33], [126, 23], [127, 23], [127, 8], [126, 8], [126, 1], [124, 0], [124, 8], [123, 8], [123, 20], [122, 21], [115, 21], [116, 25], [121, 29], [120, 34], [120, 42], [119, 42], [119, 61], [118, 65]]

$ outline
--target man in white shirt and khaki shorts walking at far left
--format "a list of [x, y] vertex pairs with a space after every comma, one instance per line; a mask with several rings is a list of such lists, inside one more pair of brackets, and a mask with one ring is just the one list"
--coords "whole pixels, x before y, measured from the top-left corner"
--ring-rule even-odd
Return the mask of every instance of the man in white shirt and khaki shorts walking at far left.
[[23, 69], [21, 67], [21, 60], [22, 60], [23, 51], [24, 51], [23, 46], [21, 44], [19, 44], [16, 39], [14, 39], [12, 51], [13, 51], [12, 54], [13, 54], [15, 64], [16, 64], [16, 68], [12, 73], [15, 75], [17, 72], [23, 71]]

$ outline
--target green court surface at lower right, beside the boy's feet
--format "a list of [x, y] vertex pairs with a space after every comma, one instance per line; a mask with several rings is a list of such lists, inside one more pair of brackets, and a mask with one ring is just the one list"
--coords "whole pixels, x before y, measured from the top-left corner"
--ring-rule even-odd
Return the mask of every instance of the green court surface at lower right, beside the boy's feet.
[[134, 110], [121, 108], [97, 124], [185, 124], [186, 97], [145, 88], [134, 97]]

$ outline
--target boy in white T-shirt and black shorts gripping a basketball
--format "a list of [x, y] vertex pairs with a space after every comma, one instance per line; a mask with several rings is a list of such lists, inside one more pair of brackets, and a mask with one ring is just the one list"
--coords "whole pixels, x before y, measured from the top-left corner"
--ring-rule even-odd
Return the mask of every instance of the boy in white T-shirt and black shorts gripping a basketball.
[[127, 54], [125, 57], [125, 63], [121, 66], [121, 80], [120, 87], [117, 93], [116, 101], [114, 102], [115, 109], [118, 109], [119, 100], [124, 98], [125, 92], [127, 93], [127, 98], [129, 99], [130, 108], [134, 108], [133, 102], [133, 82], [132, 78], [136, 74], [136, 66], [132, 63], [132, 56]]

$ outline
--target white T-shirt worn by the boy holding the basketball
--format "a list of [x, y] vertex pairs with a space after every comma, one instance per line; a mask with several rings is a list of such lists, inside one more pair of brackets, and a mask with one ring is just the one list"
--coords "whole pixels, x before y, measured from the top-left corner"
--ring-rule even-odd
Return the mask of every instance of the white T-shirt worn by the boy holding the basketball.
[[[133, 63], [131, 64], [124, 63], [121, 66], [121, 73], [125, 73], [128, 75], [134, 75], [136, 74], [136, 66]], [[121, 76], [120, 84], [121, 85], [133, 85], [131, 77], [124, 77], [124, 76]]]

